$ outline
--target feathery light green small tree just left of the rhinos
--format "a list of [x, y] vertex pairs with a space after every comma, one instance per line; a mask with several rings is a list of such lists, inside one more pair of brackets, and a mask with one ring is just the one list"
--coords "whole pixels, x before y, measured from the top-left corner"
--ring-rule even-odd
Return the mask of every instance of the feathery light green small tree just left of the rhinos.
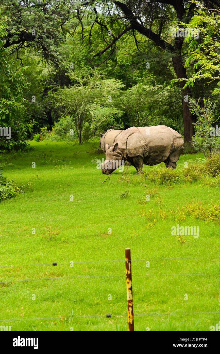
[[[95, 69], [84, 68], [83, 75], [81, 73], [81, 76], [76, 76], [72, 73], [70, 77], [77, 81], [77, 84], [69, 88], [60, 88], [53, 94], [56, 108], [61, 115], [56, 128], [61, 129], [61, 125], [65, 127], [65, 136], [67, 136], [67, 127], [74, 129], [81, 143], [87, 141], [92, 132], [93, 135], [97, 132], [105, 118], [112, 123], [116, 115], [122, 114], [112, 108], [112, 100], [123, 85], [115, 79], [105, 80], [104, 74]], [[98, 118], [100, 111], [102, 114]], [[89, 125], [91, 129], [88, 128]]]

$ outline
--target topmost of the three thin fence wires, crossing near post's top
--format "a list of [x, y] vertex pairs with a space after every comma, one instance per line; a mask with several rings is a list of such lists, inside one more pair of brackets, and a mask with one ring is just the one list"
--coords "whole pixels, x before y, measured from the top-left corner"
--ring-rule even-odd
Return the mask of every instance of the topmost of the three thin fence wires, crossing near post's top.
[[[211, 259], [211, 258], [220, 258], [220, 256], [213, 256], [213, 257], [173, 257], [173, 258], [147, 258], [147, 259], [128, 259], [128, 261], [170, 261], [173, 259]], [[58, 265], [58, 264], [80, 264], [80, 263], [96, 263], [96, 262], [125, 262], [125, 259], [106, 259], [106, 260], [97, 260], [97, 261], [80, 261], [80, 262], [52, 262], [52, 263], [35, 263], [35, 264], [11, 264], [11, 265], [0, 265], [0, 268], [3, 267], [32, 267], [32, 266], [38, 266], [38, 265]], [[56, 263], [56, 264], [53, 264]]]

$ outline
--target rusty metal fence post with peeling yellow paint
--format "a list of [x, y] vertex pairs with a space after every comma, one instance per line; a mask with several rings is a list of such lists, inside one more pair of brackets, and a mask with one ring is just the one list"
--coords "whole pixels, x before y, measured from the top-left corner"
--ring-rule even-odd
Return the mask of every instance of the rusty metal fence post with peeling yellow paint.
[[128, 327], [129, 327], [129, 331], [134, 331], [132, 261], [130, 256], [130, 248], [125, 249], [125, 265], [126, 265], [126, 286], [127, 286], [127, 302], [128, 302]]

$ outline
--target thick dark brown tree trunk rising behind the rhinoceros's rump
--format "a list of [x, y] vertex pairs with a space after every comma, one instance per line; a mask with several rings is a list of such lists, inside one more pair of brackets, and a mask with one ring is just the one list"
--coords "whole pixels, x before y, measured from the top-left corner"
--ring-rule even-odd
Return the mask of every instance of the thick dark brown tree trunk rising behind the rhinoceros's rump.
[[[177, 75], [177, 79], [187, 79], [187, 73], [184, 68], [183, 60], [180, 55], [176, 55], [172, 57], [173, 68]], [[181, 89], [183, 89], [186, 81], [179, 81], [179, 85]], [[192, 136], [194, 135], [194, 126], [193, 122], [195, 117], [190, 112], [188, 104], [189, 104], [189, 96], [191, 95], [189, 87], [185, 87], [183, 90], [183, 122], [184, 122], [184, 143], [190, 142], [192, 140]]]

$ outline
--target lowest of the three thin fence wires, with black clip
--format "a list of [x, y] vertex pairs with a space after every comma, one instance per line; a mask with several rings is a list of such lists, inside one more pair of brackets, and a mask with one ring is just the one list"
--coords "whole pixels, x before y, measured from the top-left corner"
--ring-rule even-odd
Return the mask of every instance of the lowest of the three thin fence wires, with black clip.
[[[220, 314], [220, 312], [165, 312], [165, 313], [159, 313], [159, 312], [153, 312], [153, 313], [135, 313], [134, 316], [152, 316], [152, 315], [157, 315], [157, 316], [163, 316], [163, 315], [195, 315], [195, 314]], [[31, 321], [31, 320], [63, 320], [63, 319], [71, 319], [71, 318], [92, 318], [92, 317], [107, 317], [110, 318], [112, 316], [119, 317], [119, 316], [127, 316], [128, 314], [121, 314], [121, 315], [115, 315], [115, 314], [106, 314], [106, 315], [84, 315], [84, 316], [59, 316], [59, 317], [42, 317], [42, 318], [17, 318], [17, 319], [6, 319], [6, 320], [0, 320], [0, 322], [7, 322], [7, 321]]]

